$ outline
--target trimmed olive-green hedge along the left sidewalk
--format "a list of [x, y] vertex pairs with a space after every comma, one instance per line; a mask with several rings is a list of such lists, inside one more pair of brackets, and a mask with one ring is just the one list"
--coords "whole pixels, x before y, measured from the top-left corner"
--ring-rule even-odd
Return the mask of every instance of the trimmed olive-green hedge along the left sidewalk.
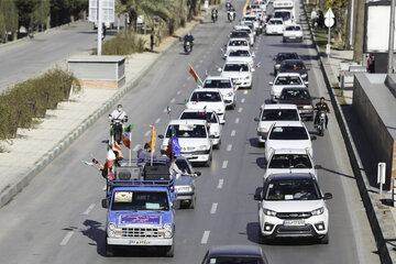
[[72, 89], [80, 91], [78, 80], [68, 72], [53, 69], [1, 94], [0, 140], [15, 138], [19, 128], [32, 128], [35, 118], [44, 118], [47, 109], [67, 100]]

